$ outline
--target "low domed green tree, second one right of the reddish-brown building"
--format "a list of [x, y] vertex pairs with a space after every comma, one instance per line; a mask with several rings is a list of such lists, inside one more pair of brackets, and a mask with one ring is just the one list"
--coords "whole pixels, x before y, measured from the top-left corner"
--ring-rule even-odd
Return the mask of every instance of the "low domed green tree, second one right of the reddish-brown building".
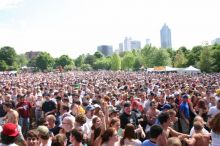
[[73, 60], [68, 55], [62, 55], [58, 59], [55, 60], [55, 67], [73, 65]]

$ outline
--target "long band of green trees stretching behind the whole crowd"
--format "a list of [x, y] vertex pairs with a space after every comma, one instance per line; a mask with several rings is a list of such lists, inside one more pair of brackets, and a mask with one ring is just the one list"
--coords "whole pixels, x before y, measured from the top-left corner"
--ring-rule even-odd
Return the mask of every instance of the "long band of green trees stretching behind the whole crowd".
[[19, 70], [22, 66], [35, 67], [37, 71], [53, 71], [57, 68], [68, 70], [139, 70], [155, 66], [185, 68], [190, 65], [203, 72], [220, 72], [220, 45], [194, 46], [192, 49], [180, 47], [163, 49], [147, 45], [112, 56], [101, 52], [82, 54], [76, 59], [68, 55], [53, 58], [48, 52], [41, 52], [28, 60], [24, 54], [18, 55], [14, 48], [0, 49], [0, 71]]

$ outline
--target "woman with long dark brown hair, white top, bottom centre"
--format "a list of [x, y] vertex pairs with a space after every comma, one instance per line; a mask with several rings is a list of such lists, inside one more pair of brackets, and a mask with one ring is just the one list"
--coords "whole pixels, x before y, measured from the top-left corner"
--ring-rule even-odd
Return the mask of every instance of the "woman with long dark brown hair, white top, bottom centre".
[[135, 127], [132, 124], [127, 124], [125, 127], [123, 138], [120, 141], [121, 145], [141, 146], [141, 141], [136, 139]]

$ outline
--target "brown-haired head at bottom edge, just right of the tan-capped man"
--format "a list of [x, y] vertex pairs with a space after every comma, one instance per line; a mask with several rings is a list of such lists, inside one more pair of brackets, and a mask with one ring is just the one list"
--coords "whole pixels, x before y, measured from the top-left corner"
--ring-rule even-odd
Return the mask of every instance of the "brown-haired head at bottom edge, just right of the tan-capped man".
[[66, 136], [64, 134], [57, 134], [52, 138], [51, 146], [67, 146]]

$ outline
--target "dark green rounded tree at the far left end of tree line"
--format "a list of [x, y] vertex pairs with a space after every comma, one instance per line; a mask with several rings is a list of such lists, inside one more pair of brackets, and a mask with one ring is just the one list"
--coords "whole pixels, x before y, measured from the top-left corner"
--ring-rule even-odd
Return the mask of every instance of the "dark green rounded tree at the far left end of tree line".
[[0, 50], [0, 60], [4, 60], [8, 66], [13, 66], [16, 63], [17, 54], [12, 47], [3, 47]]

